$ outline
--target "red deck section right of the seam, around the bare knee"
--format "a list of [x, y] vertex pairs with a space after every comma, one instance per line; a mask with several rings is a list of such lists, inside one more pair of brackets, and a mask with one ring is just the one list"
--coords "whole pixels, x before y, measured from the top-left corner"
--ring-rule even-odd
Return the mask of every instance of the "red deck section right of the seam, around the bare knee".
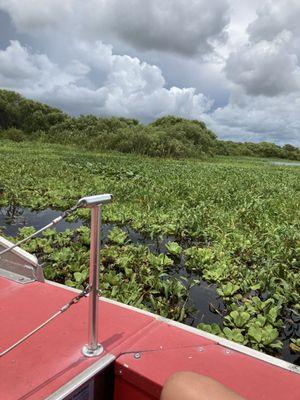
[[131, 391], [142, 389], [149, 396], [145, 398], [157, 399], [166, 379], [177, 371], [212, 377], [249, 400], [300, 399], [299, 375], [163, 323], [152, 325], [133, 349], [155, 350], [117, 359], [118, 399], [132, 398], [126, 396], [129, 386]]

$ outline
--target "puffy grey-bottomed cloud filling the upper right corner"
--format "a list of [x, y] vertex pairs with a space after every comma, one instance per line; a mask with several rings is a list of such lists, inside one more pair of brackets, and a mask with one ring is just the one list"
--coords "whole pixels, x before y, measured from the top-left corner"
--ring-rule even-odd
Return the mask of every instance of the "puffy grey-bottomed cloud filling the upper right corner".
[[248, 42], [227, 59], [227, 78], [254, 96], [299, 91], [299, 18], [297, 0], [264, 2], [247, 27]]

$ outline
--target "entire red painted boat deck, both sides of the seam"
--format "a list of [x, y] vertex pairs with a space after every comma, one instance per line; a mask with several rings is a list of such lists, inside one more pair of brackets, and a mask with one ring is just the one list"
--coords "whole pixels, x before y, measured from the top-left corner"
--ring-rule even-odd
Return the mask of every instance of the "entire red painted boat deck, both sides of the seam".
[[[67, 288], [48, 283], [21, 285], [0, 278], [0, 352], [73, 296]], [[168, 376], [182, 370], [211, 376], [247, 399], [300, 398], [299, 374], [122, 305], [101, 301], [99, 308], [101, 356], [81, 354], [88, 314], [83, 299], [0, 358], [0, 399], [45, 399], [109, 354], [117, 359], [115, 400], [158, 399]]]

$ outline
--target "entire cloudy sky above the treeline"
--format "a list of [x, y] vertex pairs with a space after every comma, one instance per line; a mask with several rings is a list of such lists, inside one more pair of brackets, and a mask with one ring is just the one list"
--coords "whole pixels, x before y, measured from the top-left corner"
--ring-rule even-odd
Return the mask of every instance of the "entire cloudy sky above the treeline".
[[299, 0], [0, 0], [0, 87], [300, 146]]

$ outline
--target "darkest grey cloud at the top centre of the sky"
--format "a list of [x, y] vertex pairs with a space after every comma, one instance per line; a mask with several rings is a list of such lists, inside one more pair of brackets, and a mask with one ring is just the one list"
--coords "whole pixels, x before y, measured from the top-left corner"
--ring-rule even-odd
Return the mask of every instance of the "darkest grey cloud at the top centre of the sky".
[[227, 0], [110, 0], [89, 4], [86, 32], [113, 37], [142, 50], [201, 55], [223, 41], [229, 23]]

